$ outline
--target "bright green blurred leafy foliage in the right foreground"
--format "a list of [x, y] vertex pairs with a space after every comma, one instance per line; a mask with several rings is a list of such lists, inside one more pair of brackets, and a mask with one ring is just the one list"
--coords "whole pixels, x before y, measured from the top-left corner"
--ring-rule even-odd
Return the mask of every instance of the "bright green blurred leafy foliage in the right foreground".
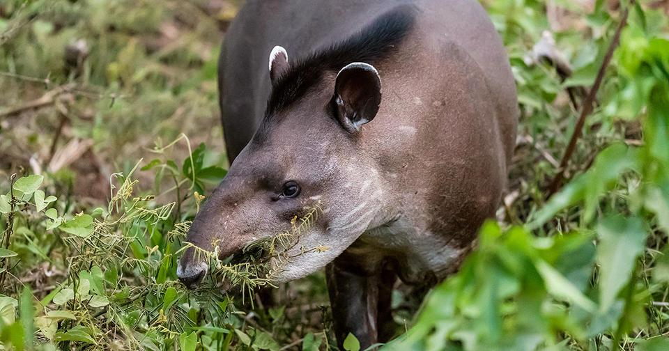
[[666, 253], [647, 244], [663, 246], [669, 233], [668, 27], [666, 17], [650, 25], [634, 10], [608, 75], [621, 91], [604, 95], [592, 118], [638, 120], [643, 143], [604, 146], [525, 224], [484, 226], [477, 250], [390, 350], [666, 348], [666, 313], [654, 304], [666, 299]]

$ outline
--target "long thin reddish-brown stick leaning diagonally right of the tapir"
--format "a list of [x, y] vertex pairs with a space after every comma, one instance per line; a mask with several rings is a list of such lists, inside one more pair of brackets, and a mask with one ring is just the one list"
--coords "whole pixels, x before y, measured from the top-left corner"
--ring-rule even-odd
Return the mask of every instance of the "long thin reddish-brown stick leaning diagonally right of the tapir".
[[555, 175], [555, 178], [553, 178], [553, 181], [551, 181], [551, 185], [549, 185], [548, 187], [548, 196], [546, 196], [546, 198], [550, 198], [553, 194], [555, 194], [555, 192], [557, 192], [557, 190], [560, 188], [560, 185], [562, 185], [562, 180], [564, 180], [564, 171], [567, 169], [567, 165], [569, 164], [569, 159], [571, 158], [571, 155], [574, 153], [574, 150], [576, 149], [576, 141], [578, 141], [578, 138], [580, 138], [581, 134], [583, 134], [583, 125], [585, 124], [585, 118], [587, 117], [587, 115], [590, 114], [590, 112], [592, 112], [592, 104], [594, 103], [594, 99], [597, 96], [597, 91], [599, 91], [599, 86], [601, 86], [601, 81], [604, 78], [604, 73], [606, 72], [606, 68], [608, 67], [611, 58], [613, 57], [613, 52], [615, 52], [615, 49], [618, 46], [618, 43], [620, 42], [620, 33], [622, 32], [624, 26], [627, 24], [627, 15], [629, 15], [629, 8], [631, 6], [634, 6], [634, 0], [630, 1], [629, 6], [627, 6], [624, 12], [622, 13], [620, 23], [615, 29], [613, 40], [608, 46], [608, 50], [606, 51], [606, 55], [604, 56], [604, 61], [601, 63], [601, 66], [599, 67], [599, 72], [597, 72], [597, 78], [594, 79], [594, 84], [592, 84], [590, 93], [587, 94], [585, 101], [581, 105], [580, 116], [578, 116], [578, 120], [576, 121], [576, 126], [574, 127], [574, 134], [571, 134], [571, 139], [569, 139], [567, 150], [564, 151], [564, 155], [562, 155], [562, 159], [560, 160], [560, 168], [557, 169], [557, 174]]

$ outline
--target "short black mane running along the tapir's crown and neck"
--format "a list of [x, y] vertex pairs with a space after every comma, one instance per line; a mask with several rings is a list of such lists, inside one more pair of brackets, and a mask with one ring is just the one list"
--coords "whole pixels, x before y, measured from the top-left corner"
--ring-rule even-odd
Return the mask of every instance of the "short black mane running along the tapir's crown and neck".
[[414, 13], [412, 6], [393, 8], [346, 40], [295, 61], [272, 86], [263, 124], [318, 83], [323, 72], [338, 72], [352, 62], [373, 64], [389, 54], [410, 31]]

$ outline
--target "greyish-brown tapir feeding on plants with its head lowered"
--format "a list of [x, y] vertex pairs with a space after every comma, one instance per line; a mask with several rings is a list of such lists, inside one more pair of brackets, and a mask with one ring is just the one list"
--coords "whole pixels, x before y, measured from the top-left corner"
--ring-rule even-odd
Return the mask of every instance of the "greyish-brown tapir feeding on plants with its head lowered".
[[[398, 277], [456, 271], [505, 189], [516, 86], [484, 8], [249, 0], [218, 68], [231, 165], [187, 242], [233, 256], [318, 207], [272, 278], [325, 269], [339, 343], [386, 341]], [[208, 270], [194, 249], [178, 264], [187, 286]]]

